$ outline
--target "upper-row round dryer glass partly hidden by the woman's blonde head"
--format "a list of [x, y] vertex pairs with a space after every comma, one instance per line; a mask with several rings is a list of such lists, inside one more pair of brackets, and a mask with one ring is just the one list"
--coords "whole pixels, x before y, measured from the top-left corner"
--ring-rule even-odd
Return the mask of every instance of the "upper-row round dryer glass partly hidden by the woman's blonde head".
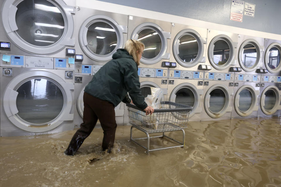
[[162, 41], [159, 34], [153, 29], [143, 29], [138, 33], [138, 41], [145, 46], [142, 58], [155, 58], [161, 51]]

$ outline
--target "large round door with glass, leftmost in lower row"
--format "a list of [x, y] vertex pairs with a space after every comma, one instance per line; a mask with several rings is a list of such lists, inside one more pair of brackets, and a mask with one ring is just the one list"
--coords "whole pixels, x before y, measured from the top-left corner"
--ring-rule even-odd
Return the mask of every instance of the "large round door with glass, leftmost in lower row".
[[54, 72], [31, 70], [15, 77], [6, 87], [4, 111], [18, 128], [46, 132], [73, 120], [73, 83]]

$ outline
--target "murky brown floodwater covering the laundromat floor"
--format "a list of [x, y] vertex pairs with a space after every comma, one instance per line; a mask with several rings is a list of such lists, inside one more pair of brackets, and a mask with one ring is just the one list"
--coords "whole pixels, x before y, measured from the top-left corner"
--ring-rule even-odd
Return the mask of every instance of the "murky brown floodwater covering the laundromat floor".
[[[75, 133], [1, 137], [0, 186], [281, 186], [280, 118], [189, 122], [185, 147], [150, 152], [128, 142], [118, 126], [112, 153], [94, 129], [74, 156], [64, 150]], [[144, 133], [133, 130], [135, 137]], [[167, 133], [182, 139], [181, 131]], [[145, 140], [140, 143], [145, 144]], [[151, 148], [171, 146], [154, 138]]]

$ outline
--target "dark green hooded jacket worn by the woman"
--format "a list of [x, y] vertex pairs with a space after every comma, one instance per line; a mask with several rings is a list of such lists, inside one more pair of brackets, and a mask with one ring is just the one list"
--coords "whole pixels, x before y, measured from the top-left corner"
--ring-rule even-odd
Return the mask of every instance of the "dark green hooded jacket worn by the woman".
[[147, 104], [141, 95], [138, 66], [133, 57], [125, 49], [117, 49], [112, 58], [94, 75], [84, 91], [114, 106], [121, 101], [131, 102], [127, 97], [128, 92], [133, 103], [145, 109]]

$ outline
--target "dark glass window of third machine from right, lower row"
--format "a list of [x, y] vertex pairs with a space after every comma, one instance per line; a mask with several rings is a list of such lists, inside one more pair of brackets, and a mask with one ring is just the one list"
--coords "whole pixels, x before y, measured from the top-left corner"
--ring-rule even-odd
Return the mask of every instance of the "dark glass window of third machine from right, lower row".
[[220, 112], [225, 107], [226, 97], [224, 91], [221, 89], [213, 89], [210, 92], [210, 107], [211, 112]]

